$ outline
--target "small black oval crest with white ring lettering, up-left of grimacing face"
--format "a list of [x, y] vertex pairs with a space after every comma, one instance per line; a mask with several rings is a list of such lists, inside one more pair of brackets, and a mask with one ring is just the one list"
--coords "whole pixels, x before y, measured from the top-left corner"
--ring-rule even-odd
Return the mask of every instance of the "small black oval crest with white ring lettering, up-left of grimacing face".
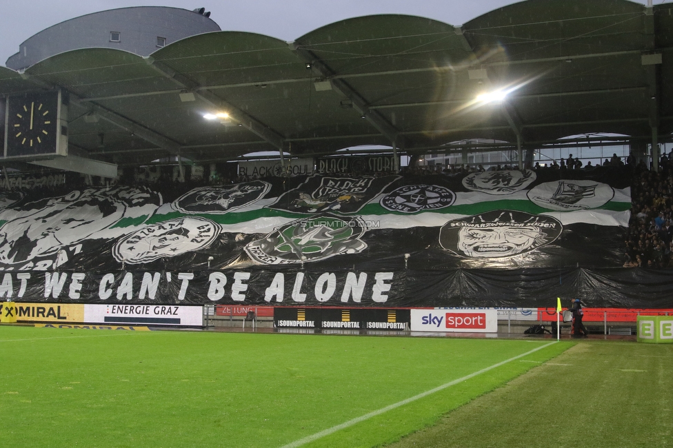
[[392, 212], [416, 213], [448, 207], [456, 194], [439, 185], [405, 185], [381, 198], [381, 207]]

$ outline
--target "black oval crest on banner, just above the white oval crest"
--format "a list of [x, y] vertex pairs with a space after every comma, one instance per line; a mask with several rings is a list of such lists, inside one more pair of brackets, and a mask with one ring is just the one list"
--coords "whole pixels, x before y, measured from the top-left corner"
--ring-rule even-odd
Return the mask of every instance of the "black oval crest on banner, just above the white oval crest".
[[225, 214], [259, 201], [270, 188], [264, 181], [200, 187], [177, 198], [173, 206], [183, 213]]

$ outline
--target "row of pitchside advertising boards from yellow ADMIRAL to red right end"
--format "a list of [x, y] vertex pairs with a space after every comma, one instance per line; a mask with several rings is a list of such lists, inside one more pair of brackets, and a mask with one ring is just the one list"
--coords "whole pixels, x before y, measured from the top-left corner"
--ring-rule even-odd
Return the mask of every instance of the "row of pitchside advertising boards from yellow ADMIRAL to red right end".
[[[673, 316], [673, 308], [584, 308], [583, 322], [594, 332], [635, 328], [639, 316]], [[232, 305], [100, 305], [0, 303], [3, 322], [68, 325], [234, 327], [254, 320], [259, 327], [286, 330], [383, 330], [403, 332], [521, 332], [520, 327], [556, 321], [556, 308], [526, 307], [254, 307]], [[559, 315], [563, 321], [563, 316]], [[258, 323], [259, 322], [259, 323]], [[596, 325], [599, 324], [599, 325]], [[254, 326], [253, 326], [254, 327]], [[629, 331], [628, 334], [631, 334]]]

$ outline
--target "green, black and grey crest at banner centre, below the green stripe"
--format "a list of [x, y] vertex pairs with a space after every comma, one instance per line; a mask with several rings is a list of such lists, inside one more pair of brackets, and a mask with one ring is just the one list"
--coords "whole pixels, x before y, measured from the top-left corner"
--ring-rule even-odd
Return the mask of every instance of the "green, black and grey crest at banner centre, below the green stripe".
[[340, 254], [357, 254], [367, 248], [360, 238], [366, 232], [357, 216], [332, 214], [292, 221], [245, 246], [250, 258], [266, 265], [319, 261]]

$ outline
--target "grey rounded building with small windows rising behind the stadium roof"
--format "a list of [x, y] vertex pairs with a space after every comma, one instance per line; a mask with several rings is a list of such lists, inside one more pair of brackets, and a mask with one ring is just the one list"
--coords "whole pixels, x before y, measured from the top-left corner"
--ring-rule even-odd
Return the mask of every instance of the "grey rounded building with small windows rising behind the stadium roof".
[[[121, 33], [119, 42], [110, 41], [110, 32]], [[220, 27], [197, 12], [163, 6], [139, 6], [94, 12], [76, 17], [35, 34], [19, 46], [6, 63], [21, 70], [43, 59], [79, 48], [116, 48], [140, 56], [159, 50], [157, 37], [166, 45]]]

